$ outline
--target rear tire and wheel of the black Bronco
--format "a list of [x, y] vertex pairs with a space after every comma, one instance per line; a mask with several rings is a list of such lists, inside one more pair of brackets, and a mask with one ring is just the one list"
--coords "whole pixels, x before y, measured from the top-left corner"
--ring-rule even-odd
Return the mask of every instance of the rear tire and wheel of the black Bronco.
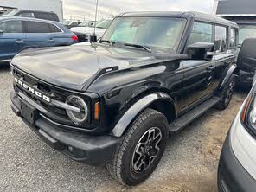
[[234, 93], [235, 82], [236, 82], [236, 79], [234, 76], [232, 76], [231, 79], [228, 81], [227, 86], [224, 88], [224, 90], [221, 93], [221, 100], [216, 105], [217, 109], [225, 110], [227, 108]]

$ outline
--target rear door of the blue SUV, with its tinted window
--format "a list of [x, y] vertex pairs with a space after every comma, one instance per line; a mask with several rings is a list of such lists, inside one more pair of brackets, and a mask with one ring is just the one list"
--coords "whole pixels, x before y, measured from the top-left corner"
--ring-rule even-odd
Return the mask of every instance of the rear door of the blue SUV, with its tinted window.
[[47, 22], [25, 21], [24, 23], [27, 47], [40, 48], [52, 46], [50, 27]]

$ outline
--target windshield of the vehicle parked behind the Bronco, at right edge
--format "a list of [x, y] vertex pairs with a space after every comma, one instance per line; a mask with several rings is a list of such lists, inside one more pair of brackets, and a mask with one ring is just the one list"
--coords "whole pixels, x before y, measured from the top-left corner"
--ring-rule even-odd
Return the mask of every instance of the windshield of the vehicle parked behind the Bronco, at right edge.
[[239, 44], [242, 44], [247, 38], [256, 38], [256, 25], [240, 25]]

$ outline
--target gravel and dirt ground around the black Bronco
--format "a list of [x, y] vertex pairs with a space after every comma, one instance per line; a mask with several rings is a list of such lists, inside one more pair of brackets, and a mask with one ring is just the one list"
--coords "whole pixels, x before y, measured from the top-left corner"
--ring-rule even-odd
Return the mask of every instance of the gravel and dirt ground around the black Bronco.
[[170, 138], [150, 179], [126, 188], [105, 167], [76, 163], [44, 144], [10, 109], [12, 77], [0, 67], [0, 191], [216, 191], [221, 145], [246, 92]]

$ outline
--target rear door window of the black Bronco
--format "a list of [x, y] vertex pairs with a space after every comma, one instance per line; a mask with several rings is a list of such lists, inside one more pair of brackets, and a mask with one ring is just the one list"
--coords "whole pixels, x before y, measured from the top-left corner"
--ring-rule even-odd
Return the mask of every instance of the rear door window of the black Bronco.
[[215, 26], [214, 45], [216, 53], [227, 51], [227, 27]]

